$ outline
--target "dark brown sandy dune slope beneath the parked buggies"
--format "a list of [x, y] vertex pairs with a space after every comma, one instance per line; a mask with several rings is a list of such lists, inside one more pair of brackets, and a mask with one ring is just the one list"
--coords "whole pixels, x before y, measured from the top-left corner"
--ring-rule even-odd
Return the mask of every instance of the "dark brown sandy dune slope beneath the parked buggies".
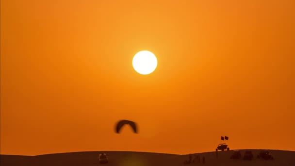
[[[241, 150], [244, 155], [245, 150]], [[206, 166], [295, 166], [295, 151], [270, 150], [273, 161], [257, 159], [261, 150], [252, 150], [255, 158], [252, 161], [230, 160], [230, 151], [195, 153], [205, 156]], [[45, 154], [37, 156], [0, 155], [0, 166], [98, 166], [98, 151]], [[184, 165], [188, 155], [106, 151], [110, 163], [105, 166], [191, 166]], [[193, 155], [195, 155], [193, 154]]]

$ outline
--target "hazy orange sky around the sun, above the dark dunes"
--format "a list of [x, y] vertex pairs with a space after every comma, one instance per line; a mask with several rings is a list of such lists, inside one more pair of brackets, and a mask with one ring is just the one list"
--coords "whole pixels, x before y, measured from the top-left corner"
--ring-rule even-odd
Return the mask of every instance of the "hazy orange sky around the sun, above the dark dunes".
[[[0, 153], [295, 150], [294, 0], [1, 0]], [[140, 75], [132, 58], [158, 67]], [[119, 119], [134, 120], [114, 133]]]

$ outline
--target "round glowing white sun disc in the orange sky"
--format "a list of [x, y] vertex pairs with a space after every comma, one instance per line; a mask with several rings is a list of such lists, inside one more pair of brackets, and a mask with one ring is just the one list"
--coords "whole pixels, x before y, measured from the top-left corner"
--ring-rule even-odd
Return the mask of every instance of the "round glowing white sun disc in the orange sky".
[[132, 65], [139, 74], [146, 75], [152, 73], [156, 69], [158, 61], [153, 53], [143, 50], [134, 55]]

